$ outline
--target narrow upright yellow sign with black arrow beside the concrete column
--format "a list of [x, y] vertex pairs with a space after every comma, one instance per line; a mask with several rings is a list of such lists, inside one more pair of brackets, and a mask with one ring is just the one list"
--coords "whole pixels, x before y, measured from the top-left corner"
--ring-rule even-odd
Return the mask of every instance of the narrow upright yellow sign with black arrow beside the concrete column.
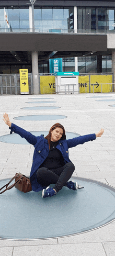
[[28, 70], [20, 69], [20, 92], [21, 94], [29, 94], [29, 86], [28, 86]]

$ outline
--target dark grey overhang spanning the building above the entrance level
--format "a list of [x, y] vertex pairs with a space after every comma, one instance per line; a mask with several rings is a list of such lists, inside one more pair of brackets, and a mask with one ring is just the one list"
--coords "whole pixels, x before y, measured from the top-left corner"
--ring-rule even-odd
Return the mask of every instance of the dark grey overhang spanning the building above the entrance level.
[[0, 51], [107, 51], [107, 35], [1, 33]]

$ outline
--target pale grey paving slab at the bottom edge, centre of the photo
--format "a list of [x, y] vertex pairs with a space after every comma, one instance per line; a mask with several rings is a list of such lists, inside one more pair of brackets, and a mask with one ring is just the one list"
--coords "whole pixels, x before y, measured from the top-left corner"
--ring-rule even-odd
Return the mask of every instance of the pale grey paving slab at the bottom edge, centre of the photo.
[[48, 246], [23, 246], [15, 247], [13, 251], [13, 256], [73, 256], [83, 255], [83, 256], [106, 256], [105, 251], [101, 243], [85, 243], [85, 244], [55, 244]]

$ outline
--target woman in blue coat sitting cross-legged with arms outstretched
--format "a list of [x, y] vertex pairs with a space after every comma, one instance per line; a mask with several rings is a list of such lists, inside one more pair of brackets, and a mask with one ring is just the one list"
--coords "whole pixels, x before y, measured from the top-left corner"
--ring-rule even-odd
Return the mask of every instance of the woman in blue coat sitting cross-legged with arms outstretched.
[[[11, 123], [6, 113], [3, 117], [6, 125], [11, 130], [10, 134], [14, 131], [35, 147], [30, 173], [33, 191], [39, 192], [43, 190], [42, 197], [44, 198], [56, 195], [63, 186], [77, 190], [77, 183], [68, 181], [75, 170], [74, 164], [68, 158], [68, 148], [76, 147], [78, 144], [101, 137], [104, 132], [103, 129], [96, 134], [93, 133], [66, 140], [64, 127], [56, 123], [51, 127], [48, 136], [44, 138], [43, 135], [36, 137]], [[54, 184], [54, 187], [49, 187], [50, 184]]]

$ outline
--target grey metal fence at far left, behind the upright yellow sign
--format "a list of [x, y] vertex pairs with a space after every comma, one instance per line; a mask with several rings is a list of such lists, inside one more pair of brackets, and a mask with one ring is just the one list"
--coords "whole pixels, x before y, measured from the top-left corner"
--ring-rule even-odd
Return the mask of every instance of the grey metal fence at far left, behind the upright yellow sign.
[[[29, 94], [33, 94], [32, 74], [28, 74]], [[0, 95], [20, 94], [19, 74], [0, 74]]]

